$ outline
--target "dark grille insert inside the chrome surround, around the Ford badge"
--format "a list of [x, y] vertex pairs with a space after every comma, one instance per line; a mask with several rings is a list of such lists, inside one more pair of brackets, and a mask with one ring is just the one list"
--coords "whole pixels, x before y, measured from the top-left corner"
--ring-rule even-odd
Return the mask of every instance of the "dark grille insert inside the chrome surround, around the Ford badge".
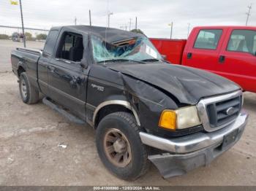
[[[206, 110], [211, 128], [217, 128], [235, 120], [241, 111], [241, 102], [242, 97], [239, 95], [225, 101], [208, 104]], [[232, 112], [228, 113], [228, 109], [232, 109]]]

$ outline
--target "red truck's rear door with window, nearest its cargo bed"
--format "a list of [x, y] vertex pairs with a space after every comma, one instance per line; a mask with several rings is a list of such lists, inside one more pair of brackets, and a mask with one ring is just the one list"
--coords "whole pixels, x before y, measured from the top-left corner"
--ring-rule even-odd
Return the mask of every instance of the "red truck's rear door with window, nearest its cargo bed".
[[222, 29], [195, 28], [184, 50], [182, 65], [215, 71], [223, 36]]

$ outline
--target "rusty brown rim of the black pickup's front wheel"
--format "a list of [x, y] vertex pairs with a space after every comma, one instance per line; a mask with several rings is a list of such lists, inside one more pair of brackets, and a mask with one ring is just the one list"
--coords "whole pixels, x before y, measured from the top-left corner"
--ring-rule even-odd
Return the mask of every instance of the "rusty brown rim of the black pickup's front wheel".
[[125, 167], [132, 160], [129, 141], [118, 129], [111, 128], [105, 133], [104, 150], [110, 163], [118, 167]]

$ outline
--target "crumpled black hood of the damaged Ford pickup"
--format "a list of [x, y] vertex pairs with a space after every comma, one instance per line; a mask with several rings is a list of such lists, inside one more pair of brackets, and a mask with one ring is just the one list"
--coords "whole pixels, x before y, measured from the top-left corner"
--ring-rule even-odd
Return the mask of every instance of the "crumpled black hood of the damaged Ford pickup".
[[174, 95], [183, 104], [197, 104], [200, 98], [240, 89], [228, 79], [187, 66], [168, 63], [113, 63], [107, 67], [157, 86]]

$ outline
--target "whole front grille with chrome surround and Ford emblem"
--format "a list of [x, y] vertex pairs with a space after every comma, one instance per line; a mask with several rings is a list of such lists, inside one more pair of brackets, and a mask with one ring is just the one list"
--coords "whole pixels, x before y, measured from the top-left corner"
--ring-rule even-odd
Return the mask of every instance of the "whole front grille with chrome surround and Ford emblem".
[[197, 111], [203, 128], [211, 132], [236, 120], [241, 112], [242, 96], [241, 90], [238, 90], [225, 95], [201, 99], [197, 104]]

